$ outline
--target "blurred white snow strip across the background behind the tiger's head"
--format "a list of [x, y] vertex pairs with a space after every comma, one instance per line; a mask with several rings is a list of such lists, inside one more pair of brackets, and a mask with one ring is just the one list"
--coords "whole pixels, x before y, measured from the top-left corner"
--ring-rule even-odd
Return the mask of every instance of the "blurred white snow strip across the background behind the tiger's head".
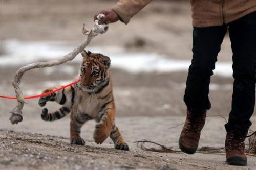
[[[6, 53], [0, 57], [0, 66], [25, 65], [38, 61], [56, 60], [70, 53], [76, 46], [54, 41], [5, 40], [3, 41], [3, 47]], [[109, 56], [112, 68], [123, 69], [134, 74], [138, 72], [188, 71], [191, 63], [190, 60], [166, 58], [163, 55], [154, 53], [130, 53], [126, 52], [124, 48], [116, 46], [94, 46], [88, 47], [87, 50]], [[82, 57], [79, 55], [70, 62], [80, 63], [81, 60]], [[69, 69], [63, 68], [60, 70], [68, 72], [67, 70]], [[51, 74], [53, 70], [49, 68], [46, 71]], [[231, 77], [232, 63], [217, 62], [214, 74]]]

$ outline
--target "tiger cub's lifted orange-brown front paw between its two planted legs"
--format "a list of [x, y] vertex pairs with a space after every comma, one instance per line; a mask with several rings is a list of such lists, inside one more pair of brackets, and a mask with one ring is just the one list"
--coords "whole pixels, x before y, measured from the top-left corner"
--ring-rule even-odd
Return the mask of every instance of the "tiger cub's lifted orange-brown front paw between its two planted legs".
[[95, 126], [95, 131], [94, 131], [94, 141], [97, 144], [103, 143], [103, 141], [108, 138], [110, 135], [110, 128], [108, 126], [105, 126], [105, 124], [97, 124]]

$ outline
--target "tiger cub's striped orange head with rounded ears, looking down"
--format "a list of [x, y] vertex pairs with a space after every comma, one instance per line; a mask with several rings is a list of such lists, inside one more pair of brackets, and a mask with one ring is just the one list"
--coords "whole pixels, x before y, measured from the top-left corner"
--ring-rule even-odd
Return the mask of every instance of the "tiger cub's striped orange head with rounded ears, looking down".
[[83, 61], [81, 65], [81, 84], [87, 90], [97, 90], [106, 83], [109, 83], [110, 58], [98, 53], [81, 53]]

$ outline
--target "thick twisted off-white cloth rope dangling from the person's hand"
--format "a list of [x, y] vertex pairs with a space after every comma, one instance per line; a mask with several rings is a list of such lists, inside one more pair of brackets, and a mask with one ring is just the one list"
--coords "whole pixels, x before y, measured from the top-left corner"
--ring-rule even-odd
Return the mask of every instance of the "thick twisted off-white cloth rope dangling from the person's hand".
[[32, 63], [23, 66], [22, 68], [19, 68], [19, 70], [16, 72], [16, 75], [12, 81], [12, 85], [15, 90], [16, 94], [16, 99], [17, 99], [17, 105], [15, 108], [13, 108], [10, 112], [12, 113], [11, 117], [9, 120], [11, 121], [12, 124], [17, 124], [19, 122], [22, 122], [23, 117], [22, 117], [22, 109], [24, 106], [24, 97], [22, 90], [19, 88], [22, 76], [25, 74], [26, 71], [34, 69], [34, 68], [43, 68], [43, 67], [51, 67], [55, 65], [60, 65], [65, 62], [73, 60], [79, 53], [81, 53], [84, 48], [91, 42], [91, 40], [97, 36], [98, 34], [103, 34], [108, 30], [108, 25], [105, 23], [99, 25], [99, 20], [103, 19], [105, 17], [104, 14], [99, 14], [97, 16], [97, 20], [94, 22], [94, 27], [89, 30], [83, 25], [82, 33], [87, 36], [87, 38], [80, 43], [72, 52], [70, 52], [68, 55], [62, 57], [59, 60], [53, 60], [53, 61], [46, 61], [46, 62], [37, 62], [37, 63]]

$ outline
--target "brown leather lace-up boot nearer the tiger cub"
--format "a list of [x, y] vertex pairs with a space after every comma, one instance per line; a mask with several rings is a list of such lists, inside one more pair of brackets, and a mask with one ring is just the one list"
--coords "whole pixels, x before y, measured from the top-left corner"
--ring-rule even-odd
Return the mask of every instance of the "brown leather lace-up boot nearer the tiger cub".
[[187, 109], [187, 118], [180, 134], [179, 147], [187, 154], [194, 154], [198, 148], [201, 130], [204, 127], [206, 110]]

